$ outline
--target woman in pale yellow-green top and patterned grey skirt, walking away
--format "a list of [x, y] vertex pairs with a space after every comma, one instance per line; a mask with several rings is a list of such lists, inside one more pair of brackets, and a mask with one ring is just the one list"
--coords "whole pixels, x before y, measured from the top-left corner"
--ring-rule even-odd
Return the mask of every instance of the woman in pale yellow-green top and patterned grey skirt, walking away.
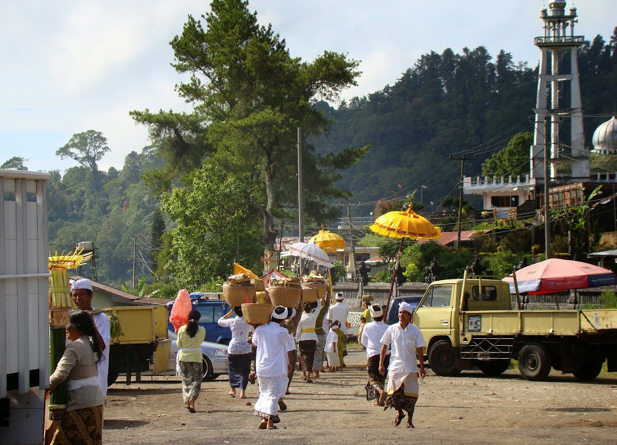
[[184, 405], [191, 413], [195, 412], [195, 401], [199, 397], [204, 378], [204, 366], [202, 364], [202, 348], [200, 347], [206, 338], [206, 329], [199, 326], [201, 314], [197, 309], [189, 312], [189, 324], [178, 329], [176, 344], [180, 351], [176, 356], [176, 370], [182, 377], [182, 398]]

